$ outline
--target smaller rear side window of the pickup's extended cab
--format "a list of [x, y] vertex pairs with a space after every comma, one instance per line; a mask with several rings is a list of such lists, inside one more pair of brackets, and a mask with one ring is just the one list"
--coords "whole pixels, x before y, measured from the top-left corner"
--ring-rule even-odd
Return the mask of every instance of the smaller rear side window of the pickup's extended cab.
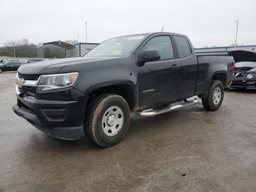
[[191, 54], [190, 46], [186, 37], [174, 35], [177, 44], [179, 57], [185, 57]]

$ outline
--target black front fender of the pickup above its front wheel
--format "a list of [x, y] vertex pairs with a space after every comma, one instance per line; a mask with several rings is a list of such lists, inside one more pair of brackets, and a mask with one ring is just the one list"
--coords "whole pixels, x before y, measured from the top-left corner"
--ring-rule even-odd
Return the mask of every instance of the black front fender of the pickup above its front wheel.
[[88, 96], [98, 88], [127, 84], [132, 87], [134, 102], [136, 105], [138, 104], [138, 67], [134, 54], [68, 65], [62, 68], [60, 73], [70, 71], [79, 72], [78, 79], [73, 87]]

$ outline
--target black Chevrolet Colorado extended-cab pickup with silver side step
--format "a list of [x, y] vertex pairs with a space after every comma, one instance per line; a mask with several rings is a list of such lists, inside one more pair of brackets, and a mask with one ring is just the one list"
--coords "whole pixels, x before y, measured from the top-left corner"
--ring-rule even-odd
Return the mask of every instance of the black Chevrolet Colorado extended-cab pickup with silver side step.
[[48, 135], [77, 140], [83, 128], [89, 140], [108, 147], [126, 134], [130, 113], [155, 116], [196, 104], [186, 100], [192, 96], [218, 110], [232, 70], [232, 56], [196, 56], [185, 35], [121, 36], [80, 58], [21, 66], [12, 109]]

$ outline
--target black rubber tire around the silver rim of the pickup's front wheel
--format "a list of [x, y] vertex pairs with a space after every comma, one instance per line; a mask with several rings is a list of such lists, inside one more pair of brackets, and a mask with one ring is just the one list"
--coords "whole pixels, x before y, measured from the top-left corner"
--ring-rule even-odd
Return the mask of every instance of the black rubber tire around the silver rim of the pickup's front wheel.
[[[106, 135], [108, 133], [105, 134], [103, 131], [103, 118], [107, 110], [115, 106], [117, 106], [119, 110], [121, 109], [123, 113], [123, 123], [119, 132], [113, 136], [108, 136]], [[129, 123], [130, 109], [126, 100], [120, 95], [102, 94], [94, 98], [86, 110], [84, 120], [84, 133], [92, 143], [102, 147], [110, 147], [114, 144], [117, 144], [124, 138], [128, 130]], [[109, 134], [112, 133], [110, 132]]]

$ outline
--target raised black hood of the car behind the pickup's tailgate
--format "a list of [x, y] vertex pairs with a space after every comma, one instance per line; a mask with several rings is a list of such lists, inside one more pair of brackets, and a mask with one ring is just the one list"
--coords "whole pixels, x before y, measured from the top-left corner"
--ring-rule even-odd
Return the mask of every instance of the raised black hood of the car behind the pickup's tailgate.
[[242, 50], [230, 51], [228, 52], [228, 56], [233, 56], [234, 61], [236, 63], [242, 62], [242, 61], [256, 62], [256, 53], [250, 52], [250, 51], [242, 51]]

